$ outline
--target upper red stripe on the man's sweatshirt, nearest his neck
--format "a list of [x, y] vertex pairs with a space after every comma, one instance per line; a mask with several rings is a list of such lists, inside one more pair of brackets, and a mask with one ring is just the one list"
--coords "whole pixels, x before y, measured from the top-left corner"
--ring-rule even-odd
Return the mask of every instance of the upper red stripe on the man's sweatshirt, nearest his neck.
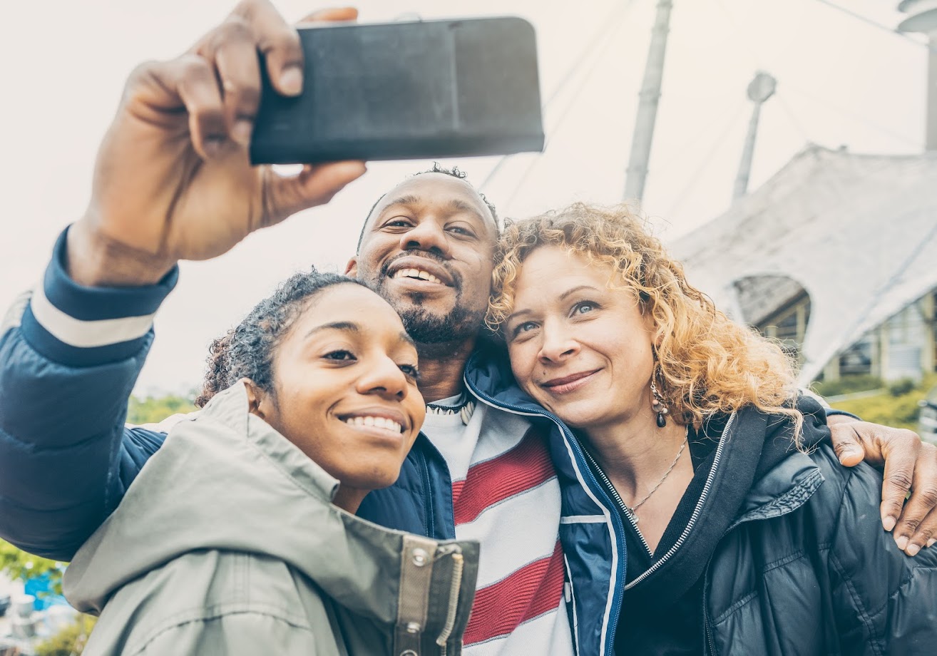
[[543, 485], [556, 475], [543, 438], [530, 428], [513, 449], [469, 467], [466, 479], [453, 484], [455, 524], [474, 521], [489, 506]]

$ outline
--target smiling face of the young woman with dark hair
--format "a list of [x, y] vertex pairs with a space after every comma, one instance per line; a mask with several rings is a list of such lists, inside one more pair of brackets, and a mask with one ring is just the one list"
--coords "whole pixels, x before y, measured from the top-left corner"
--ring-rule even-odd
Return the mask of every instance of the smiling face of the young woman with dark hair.
[[423, 425], [417, 352], [394, 309], [356, 284], [315, 294], [274, 355], [254, 412], [338, 479], [391, 485]]

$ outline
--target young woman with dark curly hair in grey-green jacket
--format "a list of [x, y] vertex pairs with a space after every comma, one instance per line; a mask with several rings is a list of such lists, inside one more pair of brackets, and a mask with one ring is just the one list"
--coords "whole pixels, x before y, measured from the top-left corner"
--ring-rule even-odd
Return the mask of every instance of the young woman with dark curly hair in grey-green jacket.
[[203, 409], [69, 565], [68, 601], [100, 616], [84, 653], [461, 653], [477, 546], [354, 515], [417, 439], [417, 378], [377, 293], [291, 276], [216, 340]]

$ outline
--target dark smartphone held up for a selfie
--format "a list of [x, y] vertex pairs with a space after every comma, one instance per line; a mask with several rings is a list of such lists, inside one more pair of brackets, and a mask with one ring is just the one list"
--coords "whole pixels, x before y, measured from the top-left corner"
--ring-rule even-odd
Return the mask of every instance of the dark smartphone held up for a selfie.
[[533, 26], [520, 18], [301, 27], [300, 97], [263, 73], [255, 164], [543, 150]]

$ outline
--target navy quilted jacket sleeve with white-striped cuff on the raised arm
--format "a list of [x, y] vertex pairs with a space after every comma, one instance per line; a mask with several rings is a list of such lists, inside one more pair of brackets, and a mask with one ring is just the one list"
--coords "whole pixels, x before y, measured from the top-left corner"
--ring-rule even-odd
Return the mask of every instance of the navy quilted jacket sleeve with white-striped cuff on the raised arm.
[[0, 537], [68, 560], [164, 435], [126, 428], [126, 401], [177, 270], [141, 288], [85, 288], [65, 233], [36, 290], [0, 326]]

